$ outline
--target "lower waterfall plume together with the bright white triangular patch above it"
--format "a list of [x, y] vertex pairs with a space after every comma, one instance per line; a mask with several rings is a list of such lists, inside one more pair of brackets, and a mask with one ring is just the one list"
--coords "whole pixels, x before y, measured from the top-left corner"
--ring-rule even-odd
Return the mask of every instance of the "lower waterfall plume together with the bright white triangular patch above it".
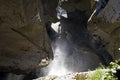
[[[58, 34], [58, 26], [60, 22], [52, 23], [51, 28]], [[54, 54], [54, 60], [50, 62], [48, 66], [48, 74], [47, 75], [65, 75], [70, 73], [70, 71], [67, 70], [65, 67], [65, 59], [67, 57], [66, 55], [66, 49], [67, 49], [67, 43], [64, 39], [59, 38], [56, 36], [55, 41], [51, 44], [53, 54]]]

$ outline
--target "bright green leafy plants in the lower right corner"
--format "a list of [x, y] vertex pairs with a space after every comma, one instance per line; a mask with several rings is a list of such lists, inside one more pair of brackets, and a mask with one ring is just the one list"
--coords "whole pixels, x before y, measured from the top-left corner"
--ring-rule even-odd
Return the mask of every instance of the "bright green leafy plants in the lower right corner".
[[116, 70], [120, 69], [120, 65], [116, 62], [111, 62], [108, 67], [102, 67], [96, 69], [92, 74], [89, 75], [87, 80], [117, 80], [114, 76]]

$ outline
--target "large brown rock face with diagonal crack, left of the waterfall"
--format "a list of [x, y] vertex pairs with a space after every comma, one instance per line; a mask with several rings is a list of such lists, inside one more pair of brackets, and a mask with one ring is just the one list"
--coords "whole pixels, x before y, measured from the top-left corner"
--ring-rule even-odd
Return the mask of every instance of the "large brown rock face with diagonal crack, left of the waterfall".
[[52, 58], [52, 50], [42, 15], [41, 1], [0, 1], [0, 71], [24, 73], [47, 65], [41, 60]]

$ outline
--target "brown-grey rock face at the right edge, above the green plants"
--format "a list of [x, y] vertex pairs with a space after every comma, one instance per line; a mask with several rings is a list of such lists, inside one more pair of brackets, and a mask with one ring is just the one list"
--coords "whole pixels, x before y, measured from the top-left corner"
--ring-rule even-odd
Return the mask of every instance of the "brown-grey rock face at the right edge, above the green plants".
[[120, 0], [109, 0], [88, 28], [94, 38], [102, 40], [114, 59], [120, 59]]

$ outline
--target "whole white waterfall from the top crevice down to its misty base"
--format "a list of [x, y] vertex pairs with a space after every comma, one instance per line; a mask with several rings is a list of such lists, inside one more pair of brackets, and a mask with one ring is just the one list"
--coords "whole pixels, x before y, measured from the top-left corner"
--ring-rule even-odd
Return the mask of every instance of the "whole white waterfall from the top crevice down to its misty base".
[[[66, 0], [67, 1], [67, 0]], [[62, 1], [59, 0], [58, 6], [56, 8], [57, 18], [60, 19], [60, 16], [68, 18], [67, 11], [61, 7]], [[52, 50], [54, 54], [54, 60], [51, 61], [48, 68], [48, 75], [65, 75], [70, 73], [69, 70], [65, 67], [65, 58], [66, 56], [66, 42], [63, 39], [60, 39], [59, 28], [60, 22], [52, 23], [51, 28], [58, 34], [55, 42], [52, 42]], [[61, 32], [61, 31], [60, 31]], [[65, 42], [65, 43], [64, 43]]]

